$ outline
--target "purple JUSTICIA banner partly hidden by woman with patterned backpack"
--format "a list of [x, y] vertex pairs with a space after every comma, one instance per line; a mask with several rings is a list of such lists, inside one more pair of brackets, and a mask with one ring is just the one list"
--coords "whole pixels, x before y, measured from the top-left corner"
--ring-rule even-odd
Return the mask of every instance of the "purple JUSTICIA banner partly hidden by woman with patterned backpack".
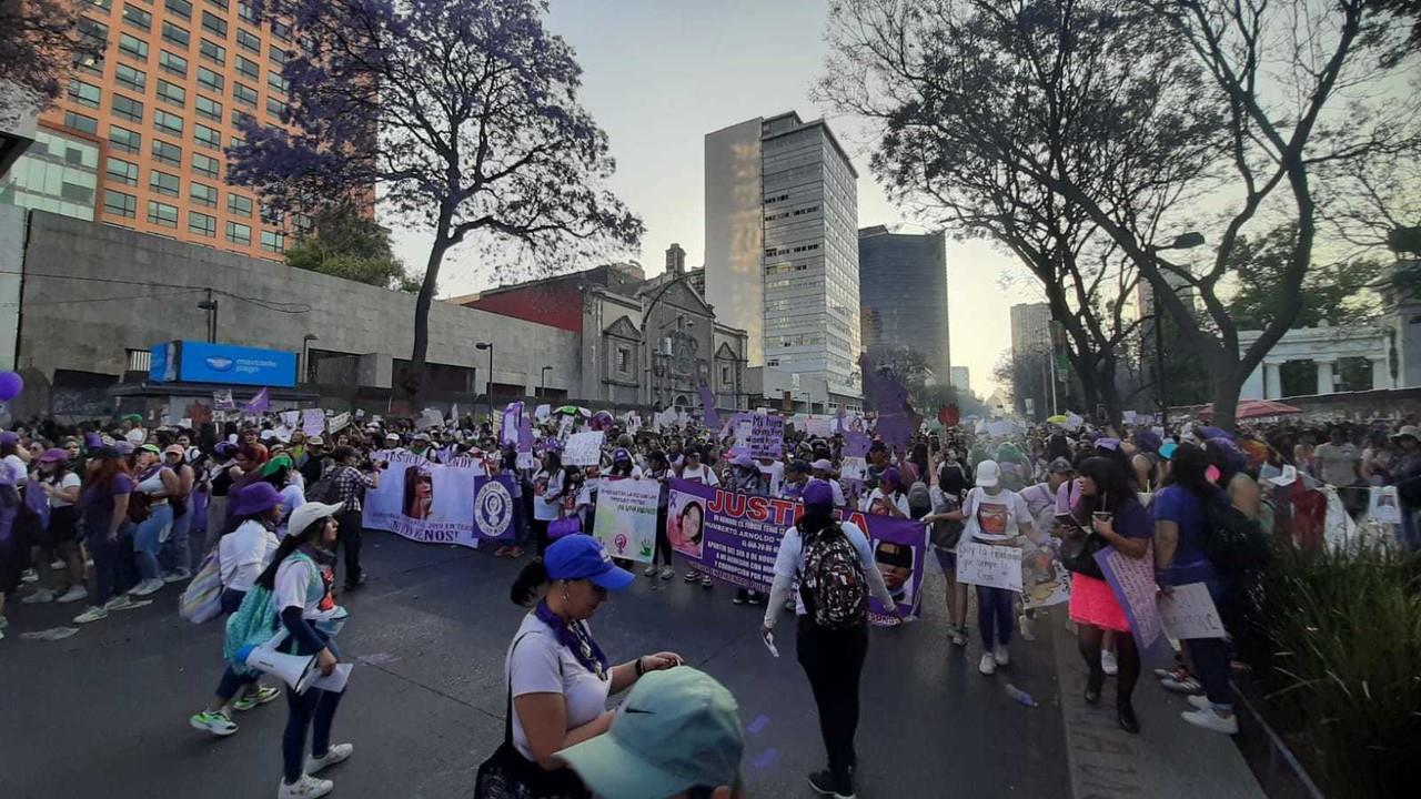
[[[780, 539], [797, 519], [800, 508], [789, 499], [749, 496], [672, 479], [666, 536], [672, 549], [691, 560], [696, 570], [735, 586], [766, 591], [774, 580]], [[898, 613], [917, 618], [928, 542], [924, 526], [909, 519], [857, 512], [841, 518], [868, 536], [884, 583], [898, 600]], [[870, 618], [875, 624], [894, 623], [877, 599], [870, 601]]]

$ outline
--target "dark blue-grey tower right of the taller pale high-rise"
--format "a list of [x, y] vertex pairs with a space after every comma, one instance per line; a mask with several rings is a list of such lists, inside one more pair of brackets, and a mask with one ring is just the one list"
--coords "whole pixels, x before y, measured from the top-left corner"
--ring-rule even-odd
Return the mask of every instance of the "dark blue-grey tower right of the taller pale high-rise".
[[858, 301], [864, 350], [911, 348], [939, 378], [951, 374], [948, 252], [939, 233], [858, 232]]

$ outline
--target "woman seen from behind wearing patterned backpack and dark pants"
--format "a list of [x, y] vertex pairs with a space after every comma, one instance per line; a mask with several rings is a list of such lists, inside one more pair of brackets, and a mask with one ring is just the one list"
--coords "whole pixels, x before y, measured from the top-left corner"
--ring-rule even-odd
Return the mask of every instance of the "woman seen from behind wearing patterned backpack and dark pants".
[[[799, 577], [794, 641], [814, 692], [818, 729], [828, 755], [828, 768], [809, 775], [809, 782], [824, 796], [848, 799], [854, 795], [853, 776], [858, 765], [854, 732], [858, 729], [858, 682], [868, 654], [868, 594], [878, 597], [887, 613], [897, 613], [897, 606], [874, 563], [868, 537], [857, 525], [834, 519], [834, 492], [828, 483], [811, 481], [804, 486], [803, 500], [804, 515], [780, 539], [760, 634], [770, 640], [780, 606]], [[824, 586], [826, 577], [836, 584]], [[833, 603], [826, 600], [830, 593]], [[830, 604], [833, 607], [827, 607]], [[831, 613], [848, 607], [855, 608], [850, 618], [830, 621]]]

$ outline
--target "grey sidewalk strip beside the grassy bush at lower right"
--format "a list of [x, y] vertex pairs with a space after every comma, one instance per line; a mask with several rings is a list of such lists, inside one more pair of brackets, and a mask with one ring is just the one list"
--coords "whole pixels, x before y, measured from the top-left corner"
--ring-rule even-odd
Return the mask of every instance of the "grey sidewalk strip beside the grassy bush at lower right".
[[1189, 709], [1184, 697], [1160, 688], [1151, 670], [1167, 663], [1142, 664], [1134, 705], [1140, 735], [1115, 724], [1115, 685], [1106, 678], [1098, 707], [1090, 707], [1086, 664], [1076, 637], [1066, 628], [1066, 608], [1050, 614], [1047, 626], [1060, 677], [1061, 717], [1071, 796], [1076, 799], [1262, 799], [1263, 790], [1243, 762], [1233, 741], [1198, 729], [1179, 718]]

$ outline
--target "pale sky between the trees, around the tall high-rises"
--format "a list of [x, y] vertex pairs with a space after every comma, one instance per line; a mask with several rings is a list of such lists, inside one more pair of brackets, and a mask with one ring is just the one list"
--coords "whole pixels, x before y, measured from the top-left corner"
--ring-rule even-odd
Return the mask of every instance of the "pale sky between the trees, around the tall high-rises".
[[[861, 127], [810, 100], [827, 54], [826, 17], [826, 0], [551, 1], [547, 24], [574, 47], [581, 102], [611, 139], [611, 189], [647, 225], [637, 260], [648, 276], [662, 272], [672, 243], [685, 247], [688, 266], [703, 263], [703, 138], [755, 117], [791, 109], [806, 119], [827, 117], [860, 173], [860, 226], [908, 222], [868, 171], [871, 141]], [[422, 266], [431, 236], [391, 226], [396, 254]], [[902, 230], [924, 229], [908, 223]], [[948, 243], [952, 364], [969, 368], [978, 395], [996, 387], [992, 368], [1012, 345], [1010, 306], [1042, 299], [1020, 274], [990, 243]], [[446, 256], [439, 296], [493, 284], [492, 269], [466, 249]]]

